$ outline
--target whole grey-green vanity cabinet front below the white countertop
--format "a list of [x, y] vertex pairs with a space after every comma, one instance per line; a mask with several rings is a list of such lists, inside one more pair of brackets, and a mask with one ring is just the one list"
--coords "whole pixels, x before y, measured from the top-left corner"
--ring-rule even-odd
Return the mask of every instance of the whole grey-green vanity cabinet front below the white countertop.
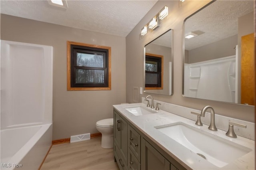
[[114, 159], [120, 170], [185, 169], [115, 109]]

